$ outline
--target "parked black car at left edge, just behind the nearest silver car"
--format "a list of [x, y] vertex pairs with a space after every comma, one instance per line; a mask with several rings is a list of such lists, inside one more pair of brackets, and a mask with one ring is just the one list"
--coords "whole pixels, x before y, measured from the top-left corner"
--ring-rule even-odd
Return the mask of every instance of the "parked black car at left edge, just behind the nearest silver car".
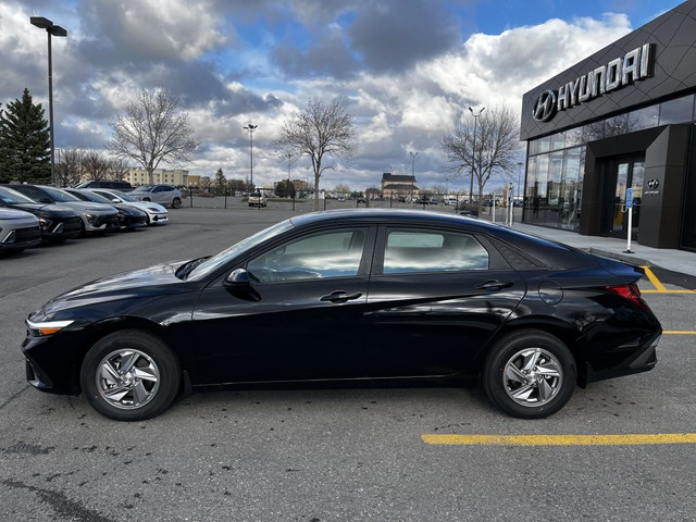
[[0, 207], [24, 210], [39, 219], [41, 239], [50, 243], [63, 243], [65, 239], [79, 237], [83, 220], [79, 214], [67, 207], [53, 203], [37, 203], [23, 194], [0, 186]]

